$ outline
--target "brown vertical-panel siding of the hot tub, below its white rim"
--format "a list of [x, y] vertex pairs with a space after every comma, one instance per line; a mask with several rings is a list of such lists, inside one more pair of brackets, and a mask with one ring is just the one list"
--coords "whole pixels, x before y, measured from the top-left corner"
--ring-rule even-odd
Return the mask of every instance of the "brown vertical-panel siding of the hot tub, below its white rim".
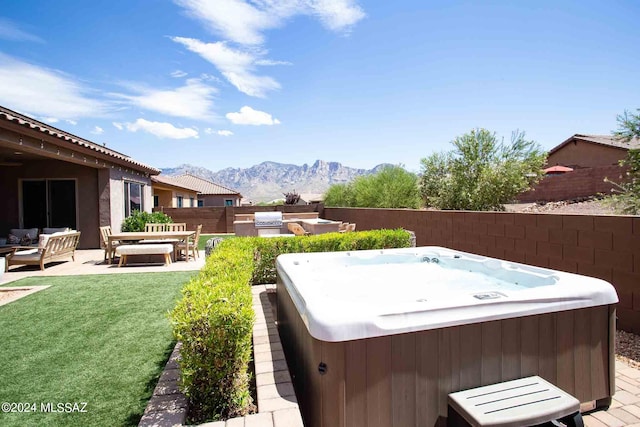
[[581, 402], [607, 405], [614, 393], [613, 306], [325, 342], [308, 333], [280, 278], [277, 301], [307, 427], [443, 426], [448, 393], [529, 375]]

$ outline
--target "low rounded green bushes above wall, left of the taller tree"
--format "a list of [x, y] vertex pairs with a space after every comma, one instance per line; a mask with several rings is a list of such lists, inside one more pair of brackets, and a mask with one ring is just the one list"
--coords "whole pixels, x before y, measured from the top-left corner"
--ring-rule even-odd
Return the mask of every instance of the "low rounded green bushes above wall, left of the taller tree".
[[325, 193], [326, 206], [367, 208], [420, 207], [418, 177], [402, 166], [387, 166], [374, 175], [348, 184], [335, 184]]

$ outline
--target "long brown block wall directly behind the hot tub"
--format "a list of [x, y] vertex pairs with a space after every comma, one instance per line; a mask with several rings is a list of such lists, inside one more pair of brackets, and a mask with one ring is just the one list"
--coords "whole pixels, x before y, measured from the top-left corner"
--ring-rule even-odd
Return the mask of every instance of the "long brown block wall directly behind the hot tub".
[[325, 208], [358, 230], [405, 228], [419, 246], [461, 251], [604, 279], [620, 298], [618, 327], [640, 333], [640, 218], [506, 212]]

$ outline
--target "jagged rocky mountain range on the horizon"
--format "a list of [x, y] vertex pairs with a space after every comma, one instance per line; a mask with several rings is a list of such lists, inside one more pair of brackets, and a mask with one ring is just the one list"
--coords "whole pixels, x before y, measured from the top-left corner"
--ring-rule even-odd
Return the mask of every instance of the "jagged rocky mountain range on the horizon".
[[162, 175], [176, 176], [185, 173], [222, 185], [242, 194], [254, 202], [283, 199], [284, 193], [322, 194], [333, 184], [344, 184], [353, 179], [377, 173], [387, 164], [373, 169], [357, 169], [338, 162], [316, 160], [313, 165], [302, 166], [262, 162], [250, 168], [226, 168], [213, 172], [209, 169], [183, 164], [174, 168], [163, 168]]

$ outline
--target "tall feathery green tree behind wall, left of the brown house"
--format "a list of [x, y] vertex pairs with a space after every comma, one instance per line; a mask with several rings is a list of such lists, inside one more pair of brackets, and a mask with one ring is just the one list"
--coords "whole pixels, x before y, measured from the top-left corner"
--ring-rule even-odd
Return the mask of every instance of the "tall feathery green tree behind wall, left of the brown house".
[[426, 206], [438, 209], [503, 210], [543, 175], [546, 153], [524, 132], [511, 144], [474, 129], [451, 142], [455, 149], [421, 160], [420, 190]]

